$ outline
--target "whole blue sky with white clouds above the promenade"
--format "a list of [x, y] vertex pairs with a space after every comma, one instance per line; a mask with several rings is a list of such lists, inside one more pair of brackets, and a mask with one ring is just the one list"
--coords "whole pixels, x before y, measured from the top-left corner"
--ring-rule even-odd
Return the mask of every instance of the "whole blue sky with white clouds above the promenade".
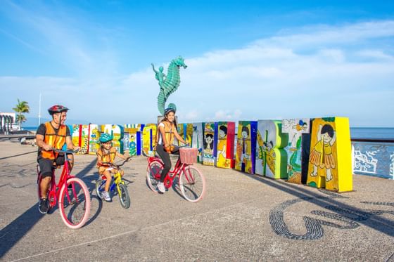
[[151, 63], [189, 67], [181, 122], [349, 117], [394, 126], [394, 1], [1, 1], [0, 111], [155, 122]]

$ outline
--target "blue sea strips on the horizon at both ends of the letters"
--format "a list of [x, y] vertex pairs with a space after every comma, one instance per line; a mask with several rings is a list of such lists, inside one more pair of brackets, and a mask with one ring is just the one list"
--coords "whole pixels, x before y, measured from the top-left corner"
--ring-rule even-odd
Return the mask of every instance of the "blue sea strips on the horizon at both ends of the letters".
[[[37, 126], [23, 126], [23, 129], [37, 131]], [[351, 127], [351, 138], [388, 138], [394, 139], [393, 127]]]

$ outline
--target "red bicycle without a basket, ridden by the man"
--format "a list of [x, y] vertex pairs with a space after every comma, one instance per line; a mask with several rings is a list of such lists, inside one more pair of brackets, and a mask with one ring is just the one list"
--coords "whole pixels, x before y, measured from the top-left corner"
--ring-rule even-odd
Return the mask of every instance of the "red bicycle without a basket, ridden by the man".
[[[47, 193], [47, 199], [49, 200], [49, 209], [59, 204], [59, 210], [61, 218], [65, 225], [69, 228], [77, 229], [81, 228], [87, 222], [90, 213], [90, 195], [89, 190], [85, 183], [75, 176], [70, 175], [70, 169], [68, 168], [67, 155], [74, 153], [70, 150], [54, 150], [59, 153], [65, 154], [65, 162], [61, 173], [61, 178], [56, 185], [55, 181], [55, 170], [56, 166], [52, 168], [51, 183], [49, 184], [49, 190]], [[38, 197], [41, 199], [41, 181], [42, 176], [39, 171], [39, 165], [37, 165], [37, 184], [38, 184]], [[60, 189], [60, 190], [59, 190]]]

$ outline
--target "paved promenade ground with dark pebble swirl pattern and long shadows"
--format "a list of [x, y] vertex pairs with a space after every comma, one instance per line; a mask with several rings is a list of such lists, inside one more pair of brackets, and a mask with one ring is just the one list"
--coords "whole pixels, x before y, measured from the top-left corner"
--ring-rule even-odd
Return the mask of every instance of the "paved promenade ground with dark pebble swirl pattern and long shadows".
[[146, 185], [146, 158], [125, 164], [132, 204], [101, 202], [95, 157], [73, 171], [91, 192], [91, 218], [67, 228], [39, 214], [37, 148], [0, 141], [0, 261], [394, 261], [394, 181], [354, 176], [354, 192], [201, 166], [198, 203]]

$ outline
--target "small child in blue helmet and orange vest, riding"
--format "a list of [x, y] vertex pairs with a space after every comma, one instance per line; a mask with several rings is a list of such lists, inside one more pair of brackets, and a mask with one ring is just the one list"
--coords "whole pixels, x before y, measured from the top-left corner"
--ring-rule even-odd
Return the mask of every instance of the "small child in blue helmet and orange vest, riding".
[[[113, 166], [109, 166], [108, 163], [113, 164], [115, 161], [115, 157], [120, 157], [122, 159], [127, 159], [125, 155], [120, 154], [117, 152], [116, 148], [112, 146], [113, 137], [108, 135], [108, 133], [103, 133], [100, 136], [100, 148], [97, 150], [97, 168], [98, 173], [100, 176], [106, 176], [106, 187], [105, 191], [103, 192], [103, 197], [106, 201], [111, 201], [110, 193], [108, 192], [110, 189], [110, 183], [112, 179], [112, 174], [117, 173], [117, 169]], [[106, 164], [107, 163], [107, 164]], [[120, 169], [120, 174], [123, 176], [123, 171]]]

